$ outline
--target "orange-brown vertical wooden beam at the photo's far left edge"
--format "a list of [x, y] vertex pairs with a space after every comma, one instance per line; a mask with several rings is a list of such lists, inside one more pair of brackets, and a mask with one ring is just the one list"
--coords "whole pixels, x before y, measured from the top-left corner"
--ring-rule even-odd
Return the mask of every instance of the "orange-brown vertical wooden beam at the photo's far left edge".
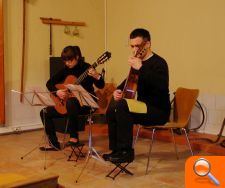
[[0, 0], [0, 125], [5, 124], [3, 0]]

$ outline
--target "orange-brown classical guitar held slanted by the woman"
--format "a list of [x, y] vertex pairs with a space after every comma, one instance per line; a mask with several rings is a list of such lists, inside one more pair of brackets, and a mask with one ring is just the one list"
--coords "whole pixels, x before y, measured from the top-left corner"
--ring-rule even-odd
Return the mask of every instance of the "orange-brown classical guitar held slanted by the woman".
[[68, 88], [66, 87], [67, 84], [74, 84], [74, 85], [79, 85], [87, 76], [88, 76], [88, 70], [92, 67], [92, 68], [96, 68], [98, 65], [105, 63], [109, 58], [111, 57], [111, 53], [110, 52], [105, 52], [103, 53], [95, 63], [93, 63], [90, 67], [88, 67], [87, 70], [85, 70], [78, 78], [76, 78], [73, 75], [69, 75], [66, 77], [66, 79], [64, 80], [63, 83], [60, 84], [56, 84], [55, 87], [57, 89], [64, 89], [67, 90], [68, 94], [67, 97], [62, 100], [60, 99], [57, 95], [51, 93], [50, 96], [53, 99], [53, 101], [55, 102], [55, 109], [57, 112], [59, 112], [60, 114], [66, 114], [67, 110], [66, 110], [66, 101], [68, 100], [68, 98], [70, 97], [74, 97], [73, 93], [71, 91], [68, 90]]

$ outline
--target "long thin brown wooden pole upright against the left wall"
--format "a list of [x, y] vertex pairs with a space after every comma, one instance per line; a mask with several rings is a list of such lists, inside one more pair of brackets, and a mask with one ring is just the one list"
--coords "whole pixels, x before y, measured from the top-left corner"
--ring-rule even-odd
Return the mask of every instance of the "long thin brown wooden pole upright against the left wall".
[[20, 80], [20, 102], [23, 102], [24, 93], [24, 67], [25, 67], [25, 19], [26, 18], [26, 0], [23, 0], [23, 34], [22, 34], [22, 65], [21, 65], [21, 80]]

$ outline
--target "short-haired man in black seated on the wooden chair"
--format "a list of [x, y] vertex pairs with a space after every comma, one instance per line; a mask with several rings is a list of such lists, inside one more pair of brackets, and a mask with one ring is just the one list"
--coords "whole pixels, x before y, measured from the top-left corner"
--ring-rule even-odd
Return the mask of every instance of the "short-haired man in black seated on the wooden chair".
[[[138, 75], [137, 101], [144, 103], [146, 112], [132, 112], [124, 99], [123, 81], [113, 93], [107, 109], [109, 154], [103, 158], [113, 163], [134, 160], [133, 124], [163, 125], [169, 120], [169, 73], [166, 61], [151, 51], [150, 33], [135, 29], [130, 34], [133, 56], [128, 59], [131, 69]], [[142, 104], [143, 104], [142, 103]]]

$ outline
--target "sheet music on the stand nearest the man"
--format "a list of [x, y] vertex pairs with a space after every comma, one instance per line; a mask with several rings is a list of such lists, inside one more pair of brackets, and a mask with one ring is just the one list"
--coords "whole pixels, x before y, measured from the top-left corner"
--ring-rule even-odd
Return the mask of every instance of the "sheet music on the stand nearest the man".
[[88, 93], [81, 85], [67, 84], [65, 85], [65, 87], [73, 93], [73, 95], [79, 100], [81, 105], [91, 106], [92, 108], [99, 108], [98, 104], [92, 98], [97, 97], [92, 95], [91, 93]]

